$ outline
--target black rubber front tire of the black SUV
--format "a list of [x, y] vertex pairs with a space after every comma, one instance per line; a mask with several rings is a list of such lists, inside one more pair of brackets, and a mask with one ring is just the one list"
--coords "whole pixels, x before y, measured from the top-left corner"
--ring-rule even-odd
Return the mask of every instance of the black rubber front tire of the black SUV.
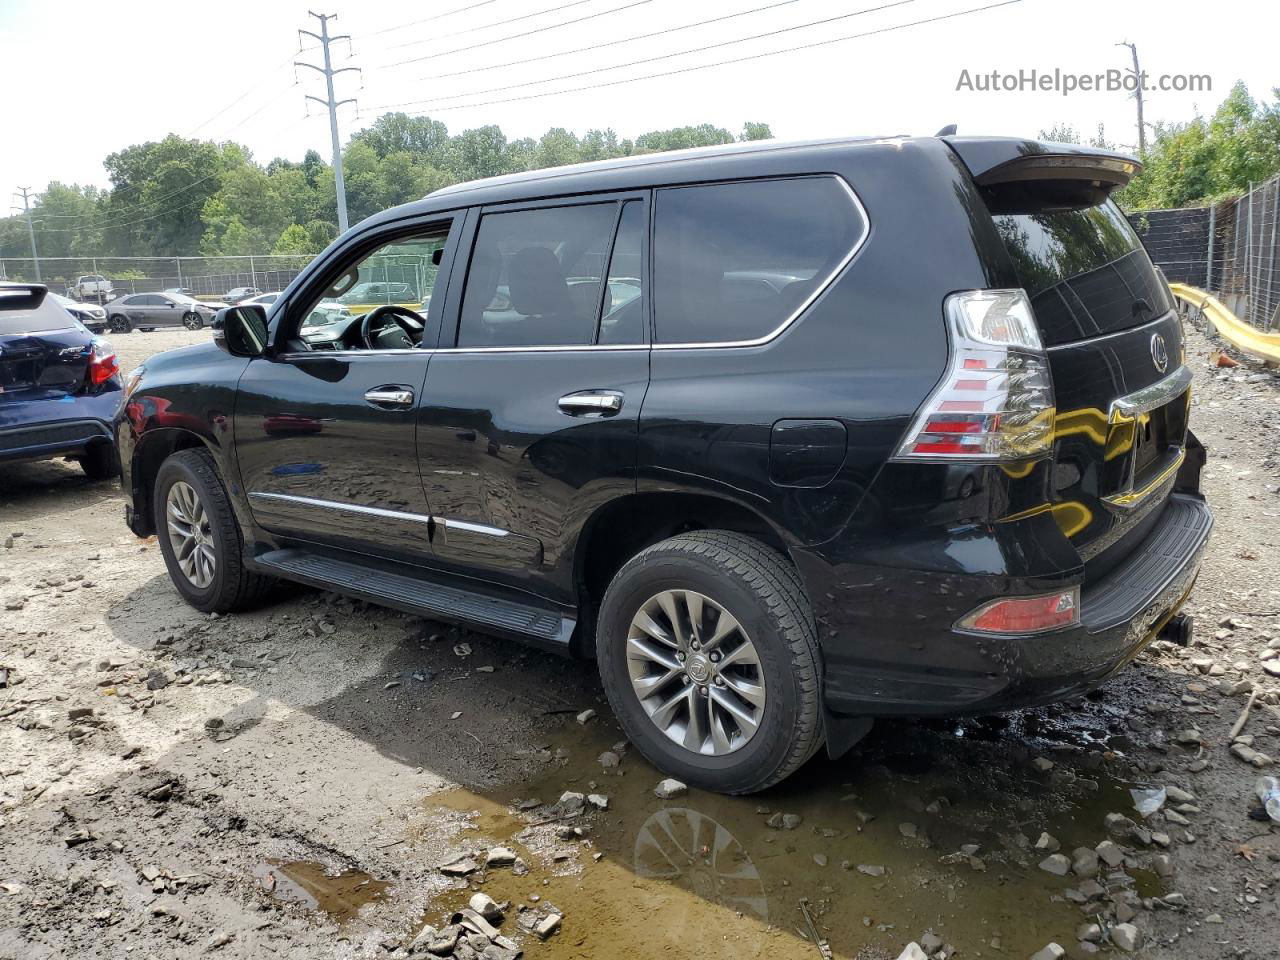
[[[200, 541], [197, 545], [211, 549], [212, 571], [207, 582], [201, 582], [202, 576], [192, 576], [184, 571], [177, 554], [169, 494], [178, 484], [184, 484], [186, 490], [179, 490], [175, 497], [180, 499], [182, 494], [191, 492], [198, 506], [198, 511], [187, 511], [184, 518], [197, 521], [195, 525], [186, 525], [187, 529], [198, 525], [201, 532], [196, 538]], [[209, 451], [179, 451], [165, 460], [156, 474], [151, 508], [169, 579], [182, 598], [197, 611], [232, 613], [246, 609], [261, 600], [275, 582], [244, 566], [244, 538]], [[209, 572], [207, 567], [198, 570], [202, 575]]]

